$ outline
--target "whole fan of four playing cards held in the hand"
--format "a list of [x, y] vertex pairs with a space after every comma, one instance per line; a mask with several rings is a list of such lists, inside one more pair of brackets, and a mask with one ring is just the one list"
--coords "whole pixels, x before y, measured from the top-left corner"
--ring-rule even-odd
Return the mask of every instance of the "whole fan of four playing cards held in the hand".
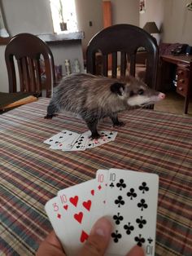
[[45, 209], [69, 256], [78, 253], [103, 216], [114, 227], [106, 255], [125, 255], [138, 245], [153, 256], [158, 189], [157, 174], [98, 170], [95, 179], [59, 191]]

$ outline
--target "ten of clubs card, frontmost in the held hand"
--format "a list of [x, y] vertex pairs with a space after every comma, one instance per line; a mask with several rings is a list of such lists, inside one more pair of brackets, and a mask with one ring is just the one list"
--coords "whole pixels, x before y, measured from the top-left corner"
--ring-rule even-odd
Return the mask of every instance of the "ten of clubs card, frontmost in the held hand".
[[159, 176], [130, 170], [108, 172], [104, 215], [114, 223], [107, 255], [125, 255], [133, 245], [155, 255]]

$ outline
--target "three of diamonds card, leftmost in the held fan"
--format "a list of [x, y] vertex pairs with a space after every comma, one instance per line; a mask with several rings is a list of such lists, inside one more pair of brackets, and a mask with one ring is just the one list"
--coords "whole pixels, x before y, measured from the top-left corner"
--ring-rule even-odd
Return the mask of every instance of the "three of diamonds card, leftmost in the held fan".
[[68, 254], [68, 248], [71, 247], [71, 242], [68, 239], [68, 229], [63, 225], [63, 219], [65, 216], [59, 202], [59, 197], [55, 196], [54, 198], [50, 199], [50, 201], [47, 201], [45, 210], [56, 235], [59, 237], [59, 241], [65, 249], [65, 253]]

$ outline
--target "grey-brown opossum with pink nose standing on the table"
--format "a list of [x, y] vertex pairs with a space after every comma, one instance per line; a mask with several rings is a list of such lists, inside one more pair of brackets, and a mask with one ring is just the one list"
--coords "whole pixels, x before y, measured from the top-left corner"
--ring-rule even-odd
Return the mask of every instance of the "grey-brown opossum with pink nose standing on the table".
[[99, 138], [97, 126], [103, 117], [111, 117], [113, 126], [124, 126], [117, 113], [134, 106], [147, 106], [164, 99], [165, 95], [152, 90], [135, 77], [126, 81], [96, 77], [89, 73], [64, 77], [47, 107], [46, 119], [51, 119], [64, 109], [76, 113], [85, 121], [91, 137]]

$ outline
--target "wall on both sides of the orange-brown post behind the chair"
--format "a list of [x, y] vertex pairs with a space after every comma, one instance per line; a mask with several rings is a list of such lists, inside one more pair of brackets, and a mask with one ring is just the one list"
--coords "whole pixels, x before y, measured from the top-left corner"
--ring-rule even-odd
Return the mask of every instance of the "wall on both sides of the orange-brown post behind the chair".
[[[105, 0], [76, 0], [76, 15], [78, 29], [85, 32], [82, 41], [84, 55], [89, 40], [103, 29], [103, 1]], [[139, 25], [139, 0], [111, 0], [112, 24]], [[89, 26], [89, 20], [93, 26]]]

